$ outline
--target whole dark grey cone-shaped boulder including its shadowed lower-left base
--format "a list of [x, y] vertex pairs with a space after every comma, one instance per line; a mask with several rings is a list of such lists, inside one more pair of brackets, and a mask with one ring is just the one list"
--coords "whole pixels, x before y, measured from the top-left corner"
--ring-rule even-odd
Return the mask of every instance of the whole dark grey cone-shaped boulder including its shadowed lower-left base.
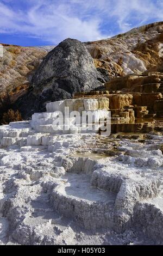
[[105, 82], [82, 42], [66, 39], [42, 60], [32, 78], [30, 93], [18, 100], [24, 118], [43, 111], [46, 103], [71, 99], [76, 92], [101, 88]]

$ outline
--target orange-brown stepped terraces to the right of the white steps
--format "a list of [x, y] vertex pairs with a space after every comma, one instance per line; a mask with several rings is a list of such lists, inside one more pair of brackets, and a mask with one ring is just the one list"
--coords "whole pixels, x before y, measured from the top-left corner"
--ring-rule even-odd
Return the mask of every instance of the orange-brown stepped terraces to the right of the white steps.
[[78, 93], [75, 98], [107, 97], [111, 132], [162, 131], [162, 78], [159, 72], [114, 78], [105, 83], [106, 91]]

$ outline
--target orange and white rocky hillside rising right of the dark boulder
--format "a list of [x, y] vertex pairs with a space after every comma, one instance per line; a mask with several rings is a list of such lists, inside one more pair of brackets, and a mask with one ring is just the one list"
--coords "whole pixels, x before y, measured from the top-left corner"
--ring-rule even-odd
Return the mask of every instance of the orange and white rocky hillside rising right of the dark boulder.
[[112, 78], [146, 70], [162, 72], [162, 31], [163, 22], [156, 22], [85, 45], [96, 67]]

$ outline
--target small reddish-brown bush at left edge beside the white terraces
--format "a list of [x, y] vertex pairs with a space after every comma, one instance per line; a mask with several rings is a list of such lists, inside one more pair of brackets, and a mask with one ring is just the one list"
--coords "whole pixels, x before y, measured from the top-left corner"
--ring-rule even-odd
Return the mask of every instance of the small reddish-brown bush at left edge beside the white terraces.
[[10, 122], [22, 121], [21, 113], [17, 110], [14, 111], [13, 109], [9, 109], [5, 112], [2, 116], [1, 123], [2, 124], [9, 124]]

